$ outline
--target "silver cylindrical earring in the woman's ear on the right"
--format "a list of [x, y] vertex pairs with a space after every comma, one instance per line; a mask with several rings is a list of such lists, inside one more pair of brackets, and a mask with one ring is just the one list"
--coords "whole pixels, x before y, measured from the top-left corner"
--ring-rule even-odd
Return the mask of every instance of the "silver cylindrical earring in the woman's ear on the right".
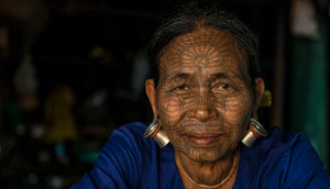
[[267, 131], [258, 121], [252, 118], [249, 130], [241, 141], [245, 146], [251, 147], [256, 138], [261, 136], [267, 136]]

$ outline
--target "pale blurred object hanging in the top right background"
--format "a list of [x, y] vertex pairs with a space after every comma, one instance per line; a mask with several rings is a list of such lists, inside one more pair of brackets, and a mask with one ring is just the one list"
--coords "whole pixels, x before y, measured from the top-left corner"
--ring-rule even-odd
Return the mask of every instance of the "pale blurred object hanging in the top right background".
[[290, 11], [290, 32], [295, 36], [317, 38], [319, 25], [311, 0], [293, 0]]

